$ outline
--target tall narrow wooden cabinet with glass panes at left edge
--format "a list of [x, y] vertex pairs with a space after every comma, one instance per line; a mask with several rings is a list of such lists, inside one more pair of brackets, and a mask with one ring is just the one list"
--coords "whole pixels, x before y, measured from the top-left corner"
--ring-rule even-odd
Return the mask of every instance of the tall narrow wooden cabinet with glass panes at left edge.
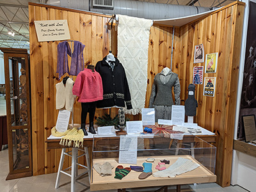
[[28, 51], [0, 48], [4, 53], [9, 146], [8, 179], [32, 175]]

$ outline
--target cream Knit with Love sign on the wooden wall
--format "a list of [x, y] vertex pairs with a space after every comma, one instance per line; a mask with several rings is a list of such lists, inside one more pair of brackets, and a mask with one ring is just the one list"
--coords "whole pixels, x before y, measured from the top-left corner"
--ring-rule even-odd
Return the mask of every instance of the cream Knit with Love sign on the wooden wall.
[[35, 20], [38, 42], [70, 40], [67, 20]]

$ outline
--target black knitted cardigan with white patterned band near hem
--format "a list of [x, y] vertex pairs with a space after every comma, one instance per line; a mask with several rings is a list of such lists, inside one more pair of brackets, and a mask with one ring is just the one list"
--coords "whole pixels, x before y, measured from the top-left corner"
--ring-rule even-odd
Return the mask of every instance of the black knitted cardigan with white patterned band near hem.
[[[103, 85], [103, 100], [97, 101], [97, 108], [104, 107], [126, 107], [132, 108], [131, 94], [125, 75], [125, 70], [120, 61], [115, 57], [115, 67], [112, 71], [106, 62], [106, 57], [98, 61], [95, 70], [100, 73]], [[124, 102], [125, 101], [125, 102]]]

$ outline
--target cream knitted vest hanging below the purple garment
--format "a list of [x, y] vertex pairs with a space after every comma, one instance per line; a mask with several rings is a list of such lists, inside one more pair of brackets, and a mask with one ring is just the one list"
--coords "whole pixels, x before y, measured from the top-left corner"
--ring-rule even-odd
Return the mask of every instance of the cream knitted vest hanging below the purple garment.
[[74, 81], [67, 79], [66, 86], [63, 82], [56, 84], [56, 109], [65, 109], [72, 111], [76, 96], [72, 93]]

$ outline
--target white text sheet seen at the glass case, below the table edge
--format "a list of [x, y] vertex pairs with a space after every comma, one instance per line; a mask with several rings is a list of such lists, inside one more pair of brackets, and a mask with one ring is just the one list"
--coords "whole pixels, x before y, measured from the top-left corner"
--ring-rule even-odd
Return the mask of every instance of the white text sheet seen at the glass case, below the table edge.
[[138, 138], [135, 136], [120, 136], [118, 163], [137, 164]]

